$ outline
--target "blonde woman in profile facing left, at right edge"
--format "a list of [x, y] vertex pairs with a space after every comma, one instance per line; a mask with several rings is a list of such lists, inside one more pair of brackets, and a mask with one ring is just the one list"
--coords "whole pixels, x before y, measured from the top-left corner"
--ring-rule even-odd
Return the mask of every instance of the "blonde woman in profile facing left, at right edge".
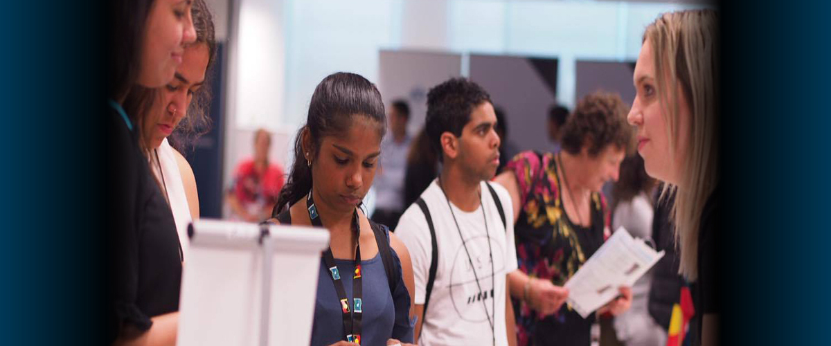
[[691, 283], [693, 345], [717, 343], [715, 287], [718, 193], [718, 17], [711, 10], [665, 13], [647, 27], [633, 77], [628, 121], [647, 173], [675, 191], [672, 217], [681, 274]]

